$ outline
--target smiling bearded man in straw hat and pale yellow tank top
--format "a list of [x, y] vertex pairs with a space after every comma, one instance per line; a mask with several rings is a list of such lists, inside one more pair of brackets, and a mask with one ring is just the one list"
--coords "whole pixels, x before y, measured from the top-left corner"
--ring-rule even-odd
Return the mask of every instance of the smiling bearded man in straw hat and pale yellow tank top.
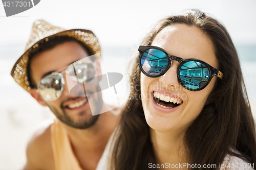
[[[89, 80], [88, 72], [100, 79], [99, 54], [98, 40], [89, 30], [63, 30], [43, 20], [34, 22], [26, 52], [14, 64], [11, 76], [57, 118], [28, 143], [24, 169], [96, 169], [118, 123], [113, 110], [104, 112], [111, 109], [106, 109], [109, 106], [99, 93], [84, 93], [93, 91], [88, 86], [81, 92]], [[67, 74], [69, 67], [75, 71], [75, 79], [72, 73]], [[81, 72], [80, 67], [87, 69]], [[71, 89], [70, 83], [76, 83], [76, 78], [82, 78], [83, 84], [79, 82]]]

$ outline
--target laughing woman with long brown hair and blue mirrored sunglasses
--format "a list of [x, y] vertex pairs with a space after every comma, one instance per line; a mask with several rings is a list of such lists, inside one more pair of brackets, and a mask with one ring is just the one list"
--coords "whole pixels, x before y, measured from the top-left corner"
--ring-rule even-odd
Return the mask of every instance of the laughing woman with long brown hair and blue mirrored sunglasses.
[[256, 169], [254, 122], [226, 29], [192, 10], [160, 20], [142, 45], [110, 169]]

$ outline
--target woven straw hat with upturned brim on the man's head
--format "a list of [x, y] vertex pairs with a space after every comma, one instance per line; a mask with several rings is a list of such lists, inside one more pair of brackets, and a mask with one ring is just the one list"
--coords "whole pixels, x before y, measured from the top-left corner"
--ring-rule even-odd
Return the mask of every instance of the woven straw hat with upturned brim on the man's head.
[[25, 53], [19, 57], [11, 70], [13, 79], [26, 91], [31, 89], [27, 72], [31, 51], [34, 50], [33, 48], [36, 49], [39, 43], [43, 43], [44, 41], [48, 41], [48, 38], [57, 36], [67, 36], [77, 39], [88, 48], [92, 55], [101, 53], [98, 39], [92, 31], [83, 29], [65, 30], [52, 26], [44, 20], [36, 20], [33, 23], [30, 38], [25, 47]]

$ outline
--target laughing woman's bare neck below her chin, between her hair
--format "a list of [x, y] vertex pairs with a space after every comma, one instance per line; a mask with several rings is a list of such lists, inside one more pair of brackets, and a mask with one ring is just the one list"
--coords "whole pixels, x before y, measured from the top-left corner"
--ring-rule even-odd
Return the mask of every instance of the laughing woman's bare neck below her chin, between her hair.
[[183, 138], [185, 131], [161, 132], [150, 129], [157, 164], [187, 163]]

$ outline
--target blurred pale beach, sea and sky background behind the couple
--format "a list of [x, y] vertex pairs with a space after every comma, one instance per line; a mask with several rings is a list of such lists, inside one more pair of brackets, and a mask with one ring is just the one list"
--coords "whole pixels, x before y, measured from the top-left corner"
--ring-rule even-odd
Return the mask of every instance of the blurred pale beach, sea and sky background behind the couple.
[[224, 23], [237, 47], [256, 118], [256, 1], [42, 0], [32, 9], [11, 17], [5, 17], [0, 4], [0, 170], [21, 169], [33, 132], [53, 117], [47, 107], [40, 106], [10, 76], [13, 64], [24, 52], [34, 20], [44, 19], [65, 29], [92, 30], [102, 46], [105, 71], [124, 75], [117, 87], [124, 96], [125, 69], [142, 38], [162, 17], [186, 9], [200, 9]]

